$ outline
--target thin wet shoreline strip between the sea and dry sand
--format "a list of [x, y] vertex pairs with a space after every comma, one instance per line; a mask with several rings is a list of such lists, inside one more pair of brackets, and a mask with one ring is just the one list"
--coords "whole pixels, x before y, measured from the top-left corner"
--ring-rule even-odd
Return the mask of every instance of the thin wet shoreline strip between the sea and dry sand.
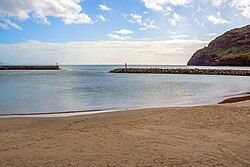
[[231, 96], [225, 96], [222, 100], [219, 100], [216, 104], [200, 104], [200, 105], [184, 105], [184, 106], [171, 106], [171, 107], [152, 107], [152, 108], [131, 108], [131, 109], [98, 109], [98, 110], [73, 110], [73, 111], [60, 111], [60, 112], [38, 112], [38, 113], [4, 113], [0, 114], [0, 119], [8, 118], [64, 118], [75, 117], [83, 115], [94, 115], [100, 113], [110, 112], [124, 112], [133, 110], [155, 110], [155, 109], [169, 109], [169, 108], [186, 108], [186, 107], [199, 107], [199, 106], [213, 106], [217, 104], [238, 103], [250, 100], [250, 92], [235, 94]]

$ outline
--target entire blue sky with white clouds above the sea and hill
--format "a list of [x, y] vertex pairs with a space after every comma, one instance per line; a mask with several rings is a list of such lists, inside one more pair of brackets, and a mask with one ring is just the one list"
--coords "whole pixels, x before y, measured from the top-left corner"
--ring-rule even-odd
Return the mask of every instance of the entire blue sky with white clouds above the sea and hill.
[[249, 0], [0, 0], [3, 64], [186, 64]]

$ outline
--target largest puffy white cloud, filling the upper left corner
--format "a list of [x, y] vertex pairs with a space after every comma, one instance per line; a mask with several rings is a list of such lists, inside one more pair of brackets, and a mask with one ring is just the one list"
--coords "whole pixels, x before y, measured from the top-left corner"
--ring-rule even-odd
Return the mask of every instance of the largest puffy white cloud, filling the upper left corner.
[[26, 20], [33, 18], [50, 24], [48, 17], [56, 17], [65, 24], [90, 24], [92, 19], [82, 12], [80, 0], [1, 0], [0, 15]]

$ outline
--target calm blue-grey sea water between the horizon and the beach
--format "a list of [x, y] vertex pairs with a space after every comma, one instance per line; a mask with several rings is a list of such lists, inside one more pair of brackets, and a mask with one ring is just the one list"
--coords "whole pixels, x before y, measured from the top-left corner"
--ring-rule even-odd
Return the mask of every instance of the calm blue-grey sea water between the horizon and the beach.
[[0, 114], [214, 104], [250, 92], [250, 77], [108, 73], [117, 67], [122, 66], [0, 71]]

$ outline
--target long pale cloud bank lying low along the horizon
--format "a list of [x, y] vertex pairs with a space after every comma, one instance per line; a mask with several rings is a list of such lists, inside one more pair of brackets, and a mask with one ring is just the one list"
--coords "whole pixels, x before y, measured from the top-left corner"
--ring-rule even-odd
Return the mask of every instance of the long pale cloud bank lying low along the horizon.
[[207, 45], [201, 40], [100, 41], [50, 43], [27, 41], [0, 44], [6, 64], [186, 64]]

